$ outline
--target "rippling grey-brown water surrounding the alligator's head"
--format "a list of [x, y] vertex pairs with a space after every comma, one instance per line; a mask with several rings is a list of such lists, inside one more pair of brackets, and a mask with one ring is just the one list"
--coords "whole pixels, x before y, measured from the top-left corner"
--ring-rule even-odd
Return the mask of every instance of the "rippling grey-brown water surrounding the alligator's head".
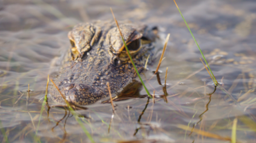
[[0, 1], [0, 142], [90, 142], [74, 116], [51, 99], [40, 122], [39, 116], [47, 75], [57, 73], [53, 63], [69, 47], [68, 31], [83, 21], [112, 19], [109, 7], [118, 20], [171, 34], [160, 68], [164, 83], [168, 67], [167, 86], [150, 72], [156, 62], [143, 76], [153, 76], [146, 85], [156, 91], [155, 104], [131, 98], [114, 102], [115, 114], [100, 102], [77, 111], [95, 142], [229, 142], [236, 119], [237, 140], [255, 142], [255, 1], [177, 3], [231, 97], [219, 88], [209, 96], [213, 82], [173, 1]]

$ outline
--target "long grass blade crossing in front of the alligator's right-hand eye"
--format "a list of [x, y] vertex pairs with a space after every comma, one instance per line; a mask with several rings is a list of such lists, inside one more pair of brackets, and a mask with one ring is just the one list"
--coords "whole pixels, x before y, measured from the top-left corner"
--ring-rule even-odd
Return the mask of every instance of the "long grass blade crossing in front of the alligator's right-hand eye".
[[[112, 14], [113, 14], [113, 11], [112, 11], [111, 8], [110, 8], [110, 10], [111, 10], [111, 12], [112, 12]], [[113, 19], [115, 19], [115, 21], [116, 21], [116, 18], [115, 18], [115, 16], [114, 16], [114, 14], [113, 14]], [[145, 86], [145, 83], [143, 82], [143, 79], [140, 77], [140, 73], [138, 72], [138, 69], [136, 68], [136, 66], [135, 66], [135, 64], [134, 64], [134, 61], [133, 61], [132, 58], [131, 58], [131, 54], [130, 54], [130, 52], [129, 52], [129, 50], [128, 50], [128, 47], [127, 47], [127, 45], [126, 45], [126, 43], [125, 43], [125, 40], [124, 40], [124, 38], [123, 38], [123, 36], [122, 36], [122, 32], [121, 32], [121, 30], [120, 30], [120, 28], [119, 28], [118, 21], [116, 21], [116, 25], [117, 25], [118, 30], [119, 30], [119, 32], [120, 32], [120, 35], [121, 35], [121, 37], [122, 37], [122, 43], [124, 43], [124, 45], [125, 45], [125, 49], [126, 49], [126, 51], [127, 51], [127, 53], [128, 53], [128, 56], [129, 56], [129, 58], [130, 58], [130, 60], [131, 60], [132, 65], [134, 66], [134, 69], [136, 70], [136, 73], [137, 73], [137, 75], [138, 75], [138, 78], [140, 78], [140, 82], [143, 84], [143, 87], [144, 87], [145, 91], [147, 92], [147, 96], [149, 96], [149, 98], [152, 98], [152, 96], [149, 94], [149, 91], [147, 90], [147, 87]]]

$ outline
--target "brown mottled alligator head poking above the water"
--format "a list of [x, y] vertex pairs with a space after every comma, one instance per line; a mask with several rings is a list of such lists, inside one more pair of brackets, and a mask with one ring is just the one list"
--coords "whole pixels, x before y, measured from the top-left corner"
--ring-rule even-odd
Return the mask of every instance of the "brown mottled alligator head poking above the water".
[[[156, 50], [157, 28], [130, 21], [119, 21], [119, 25], [133, 61], [142, 73], [147, 56], [151, 57], [150, 63]], [[80, 23], [68, 33], [68, 38], [71, 49], [62, 58], [61, 72], [54, 79], [68, 102], [93, 104], [109, 96], [107, 82], [115, 96], [136, 78], [113, 21]], [[55, 87], [51, 87], [50, 94], [55, 102], [64, 102]]]

